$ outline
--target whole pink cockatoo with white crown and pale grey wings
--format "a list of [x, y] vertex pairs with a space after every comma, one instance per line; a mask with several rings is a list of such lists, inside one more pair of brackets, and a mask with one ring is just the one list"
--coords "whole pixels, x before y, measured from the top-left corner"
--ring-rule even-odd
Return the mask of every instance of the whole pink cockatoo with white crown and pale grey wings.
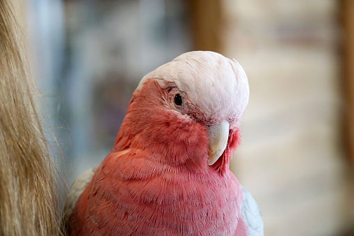
[[113, 149], [74, 182], [69, 235], [263, 235], [229, 171], [249, 97], [241, 65], [188, 52], [143, 77]]

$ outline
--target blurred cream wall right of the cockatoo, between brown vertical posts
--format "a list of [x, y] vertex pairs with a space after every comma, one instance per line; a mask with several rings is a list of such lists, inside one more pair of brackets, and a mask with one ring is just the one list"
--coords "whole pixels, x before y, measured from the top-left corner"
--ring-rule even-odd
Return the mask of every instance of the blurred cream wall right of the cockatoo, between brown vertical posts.
[[232, 171], [259, 203], [265, 235], [339, 235], [348, 226], [337, 4], [222, 4], [223, 53], [250, 84]]

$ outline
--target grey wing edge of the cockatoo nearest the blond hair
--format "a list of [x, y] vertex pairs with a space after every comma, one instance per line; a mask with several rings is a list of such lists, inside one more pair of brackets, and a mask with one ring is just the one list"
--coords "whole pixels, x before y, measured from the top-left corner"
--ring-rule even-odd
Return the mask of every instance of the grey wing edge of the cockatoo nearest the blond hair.
[[83, 190], [86, 189], [88, 183], [92, 180], [92, 177], [95, 174], [96, 169], [97, 167], [90, 168], [87, 171], [81, 173], [81, 175], [79, 175], [79, 178], [77, 178], [77, 180], [75, 180], [74, 183], [72, 184], [72, 187], [70, 188], [69, 194], [67, 194], [67, 197], [65, 199], [65, 204], [64, 204], [63, 219], [62, 219], [62, 223], [64, 227], [67, 225], [67, 219], [72, 213], [72, 210], [74, 209], [74, 206], [77, 203], [77, 199], [79, 198]]

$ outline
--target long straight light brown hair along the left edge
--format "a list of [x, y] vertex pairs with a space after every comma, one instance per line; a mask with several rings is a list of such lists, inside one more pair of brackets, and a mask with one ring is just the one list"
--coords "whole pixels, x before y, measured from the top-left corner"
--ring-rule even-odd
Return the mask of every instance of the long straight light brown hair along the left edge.
[[8, 0], [0, 1], [0, 235], [60, 235], [56, 171]]

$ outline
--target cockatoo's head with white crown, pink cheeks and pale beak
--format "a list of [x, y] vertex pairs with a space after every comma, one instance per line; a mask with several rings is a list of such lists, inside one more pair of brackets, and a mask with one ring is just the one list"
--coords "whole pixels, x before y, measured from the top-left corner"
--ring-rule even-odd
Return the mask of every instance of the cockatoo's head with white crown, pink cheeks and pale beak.
[[[248, 98], [248, 79], [239, 63], [216, 52], [187, 52], [141, 79], [124, 120], [129, 120], [133, 139], [159, 143], [157, 149], [170, 162], [186, 162], [199, 150], [194, 165], [206, 161], [225, 173], [239, 144], [239, 120]], [[169, 144], [163, 148], [163, 143]]]

